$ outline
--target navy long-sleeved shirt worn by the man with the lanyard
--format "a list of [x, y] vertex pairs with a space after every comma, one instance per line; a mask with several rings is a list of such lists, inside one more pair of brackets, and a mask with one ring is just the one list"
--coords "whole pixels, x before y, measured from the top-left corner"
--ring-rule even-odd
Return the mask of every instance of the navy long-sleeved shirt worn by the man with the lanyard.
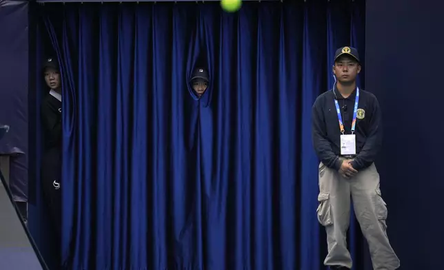
[[[312, 139], [316, 155], [321, 162], [330, 168], [341, 167], [341, 129], [334, 99], [338, 100], [344, 121], [345, 134], [351, 134], [354, 101], [356, 90], [347, 98], [339, 93], [337, 88], [325, 92], [316, 98], [312, 107]], [[352, 166], [356, 170], [365, 169], [374, 162], [376, 154], [381, 149], [382, 123], [381, 109], [374, 94], [359, 88], [358, 108], [364, 111], [363, 118], [356, 118], [356, 156]], [[361, 112], [362, 112], [361, 110]], [[361, 114], [362, 116], [362, 114]]]

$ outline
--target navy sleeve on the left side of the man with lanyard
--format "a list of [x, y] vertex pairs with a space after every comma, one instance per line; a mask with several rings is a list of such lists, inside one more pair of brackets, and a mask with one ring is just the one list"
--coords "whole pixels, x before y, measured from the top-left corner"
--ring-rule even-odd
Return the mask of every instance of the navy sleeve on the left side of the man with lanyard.
[[312, 140], [314, 150], [325, 166], [339, 170], [342, 160], [334, 154], [332, 145], [330, 145], [330, 141], [327, 139], [324, 114], [319, 103], [318, 98], [312, 107]]

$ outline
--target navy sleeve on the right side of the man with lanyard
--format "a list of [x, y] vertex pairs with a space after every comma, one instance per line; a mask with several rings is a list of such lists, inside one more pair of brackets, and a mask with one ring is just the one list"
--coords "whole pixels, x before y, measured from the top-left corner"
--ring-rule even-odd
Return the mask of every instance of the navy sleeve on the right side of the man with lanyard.
[[356, 170], [365, 169], [372, 165], [374, 158], [381, 149], [383, 141], [383, 131], [382, 131], [382, 112], [379, 107], [379, 102], [376, 96], [373, 96], [374, 101], [372, 102], [372, 113], [370, 116], [370, 132], [367, 136], [367, 141], [361, 149], [361, 152], [352, 161], [352, 166]]

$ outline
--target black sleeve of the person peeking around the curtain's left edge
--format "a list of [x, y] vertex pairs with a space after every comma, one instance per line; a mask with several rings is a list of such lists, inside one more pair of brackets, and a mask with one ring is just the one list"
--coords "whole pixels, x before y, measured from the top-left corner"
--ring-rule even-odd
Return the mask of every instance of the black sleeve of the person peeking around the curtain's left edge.
[[48, 101], [41, 105], [41, 121], [45, 130], [45, 140], [48, 146], [61, 144], [61, 116]]

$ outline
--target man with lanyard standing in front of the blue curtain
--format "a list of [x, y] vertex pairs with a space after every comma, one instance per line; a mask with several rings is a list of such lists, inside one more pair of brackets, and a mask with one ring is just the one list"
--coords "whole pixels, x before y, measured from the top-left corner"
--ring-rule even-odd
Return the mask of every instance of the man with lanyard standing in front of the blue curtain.
[[382, 143], [381, 110], [374, 94], [356, 86], [359, 72], [355, 48], [336, 50], [336, 83], [312, 107], [313, 145], [321, 160], [316, 213], [327, 232], [328, 245], [324, 264], [330, 269], [352, 268], [346, 241], [351, 197], [373, 269], [397, 269], [400, 263], [387, 238], [387, 207], [374, 165]]

